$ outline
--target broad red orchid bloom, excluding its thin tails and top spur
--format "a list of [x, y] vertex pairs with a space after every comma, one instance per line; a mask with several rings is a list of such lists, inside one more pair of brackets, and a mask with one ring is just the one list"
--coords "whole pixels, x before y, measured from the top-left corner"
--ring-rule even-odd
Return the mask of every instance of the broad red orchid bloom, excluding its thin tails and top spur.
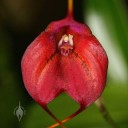
[[44, 108], [62, 92], [86, 108], [101, 95], [107, 67], [99, 41], [71, 15], [50, 23], [22, 59], [25, 87]]

